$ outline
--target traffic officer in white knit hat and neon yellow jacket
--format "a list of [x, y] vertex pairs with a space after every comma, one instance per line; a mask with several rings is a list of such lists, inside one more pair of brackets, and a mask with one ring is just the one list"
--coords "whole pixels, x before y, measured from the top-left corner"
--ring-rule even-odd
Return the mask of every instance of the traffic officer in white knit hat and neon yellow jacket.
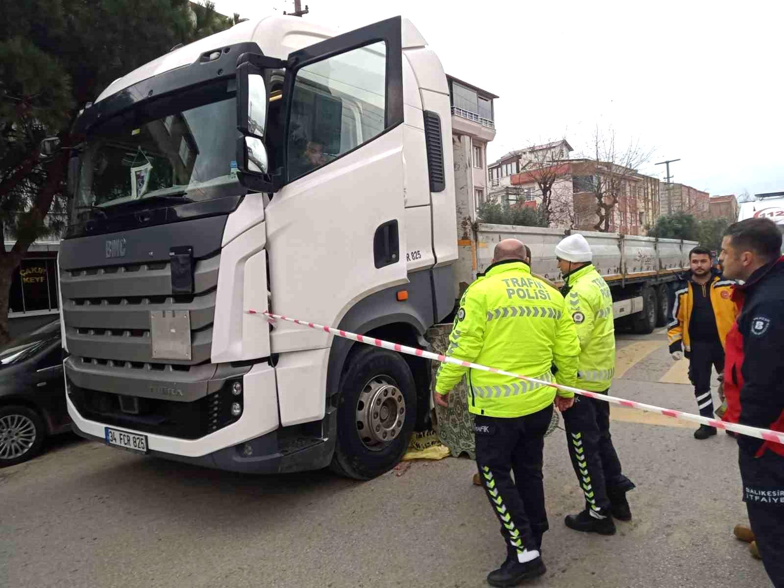
[[[556, 245], [555, 255], [564, 275], [561, 292], [567, 313], [577, 327], [580, 342], [576, 387], [607, 394], [615, 374], [610, 289], [593, 267], [590, 246], [583, 235], [564, 238]], [[634, 485], [621, 473], [612, 445], [610, 406], [583, 396], [562, 412], [569, 456], [586, 499], [585, 510], [568, 515], [566, 525], [575, 531], [613, 535], [615, 523], [611, 514], [622, 521], [631, 519], [626, 492]]]

